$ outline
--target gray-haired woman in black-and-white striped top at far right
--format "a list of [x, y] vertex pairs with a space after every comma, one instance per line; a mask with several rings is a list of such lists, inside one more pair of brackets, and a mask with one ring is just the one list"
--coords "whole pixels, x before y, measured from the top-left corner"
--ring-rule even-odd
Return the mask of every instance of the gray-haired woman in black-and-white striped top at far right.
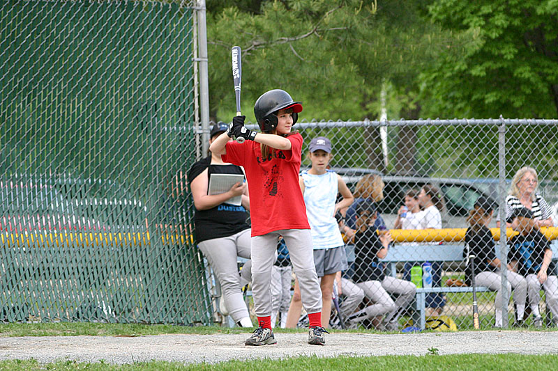
[[[537, 193], [538, 175], [536, 170], [524, 166], [515, 173], [511, 180], [509, 195], [506, 197], [506, 222], [508, 227], [513, 228], [510, 219], [513, 210], [526, 207], [531, 210], [535, 219], [535, 226], [552, 227], [552, 208], [543, 196]], [[497, 222], [499, 226], [499, 221]]]

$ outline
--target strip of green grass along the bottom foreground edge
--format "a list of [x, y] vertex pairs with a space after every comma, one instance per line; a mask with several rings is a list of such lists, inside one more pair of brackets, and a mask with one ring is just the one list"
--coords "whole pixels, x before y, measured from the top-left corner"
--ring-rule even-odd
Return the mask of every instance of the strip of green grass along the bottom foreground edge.
[[553, 370], [558, 355], [453, 354], [439, 356], [378, 356], [318, 358], [305, 356], [283, 360], [229, 361], [217, 364], [185, 365], [178, 362], [150, 361], [130, 365], [106, 362], [58, 361], [41, 364], [35, 360], [0, 361], [0, 369], [13, 370]]

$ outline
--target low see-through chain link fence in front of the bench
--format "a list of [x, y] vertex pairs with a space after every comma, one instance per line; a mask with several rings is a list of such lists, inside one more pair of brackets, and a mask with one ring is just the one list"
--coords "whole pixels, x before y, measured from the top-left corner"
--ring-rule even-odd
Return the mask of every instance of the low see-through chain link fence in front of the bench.
[[[420, 289], [418, 292], [425, 292], [422, 297], [419, 294], [414, 295], [417, 302], [405, 305], [406, 310], [397, 314], [401, 315], [399, 328], [411, 324], [409, 319], [414, 319], [414, 325], [418, 326], [420, 316], [416, 315], [416, 310], [421, 310], [422, 307], [426, 326], [428, 315], [446, 315], [453, 319], [458, 329], [471, 329], [473, 297], [471, 283], [466, 280], [470, 265], [467, 264], [464, 242], [465, 230], [469, 227], [467, 216], [480, 196], [492, 198], [495, 212], [488, 227], [494, 228], [492, 232], [497, 237], [495, 246], [489, 249], [499, 258], [506, 255], [508, 246], [506, 239], [503, 242], [498, 239], [501, 231], [497, 228], [497, 219], [500, 210], [505, 210], [505, 197], [510, 191], [511, 179], [520, 168], [530, 166], [538, 172], [536, 192], [552, 207], [552, 217], [558, 223], [557, 125], [557, 120], [500, 118], [312, 121], [298, 123], [295, 128], [305, 139], [303, 169], [311, 166], [309, 158], [305, 156], [310, 140], [315, 136], [326, 136], [331, 140], [331, 169], [348, 184], [354, 193], [355, 204], [361, 198], [375, 201], [382, 219], [382, 223], [377, 222], [375, 228], [379, 226], [379, 229], [391, 230], [395, 239], [388, 255], [381, 262], [386, 274], [412, 281]], [[248, 126], [251, 129], [256, 128], [255, 125]], [[421, 205], [420, 198], [417, 197], [427, 184], [439, 196], [439, 201], [434, 198], [432, 201], [440, 212], [441, 220], [429, 220], [435, 213], [425, 212], [428, 205]], [[414, 193], [409, 194], [409, 191]], [[407, 203], [406, 196], [410, 198]], [[416, 209], [413, 208], [415, 205]], [[403, 210], [403, 206], [412, 210]], [[400, 214], [405, 214], [405, 217]], [[355, 210], [349, 208], [347, 215], [340, 218], [340, 225], [358, 230], [359, 226], [355, 223], [357, 219]], [[416, 230], [413, 233], [401, 230], [402, 228]], [[428, 232], [424, 228], [436, 229]], [[346, 228], [343, 229], [345, 230]], [[551, 239], [556, 237], [552, 228], [548, 233]], [[557, 245], [556, 242], [551, 243], [556, 258]], [[346, 250], [349, 269], [344, 276], [351, 279], [355, 270], [363, 268], [359, 266], [362, 264], [362, 256], [359, 257], [359, 247], [355, 248], [354, 239], [347, 240]], [[481, 271], [495, 271], [497, 287], [501, 287], [502, 281], [497, 269], [488, 267], [485, 261], [476, 261], [476, 264]], [[428, 275], [432, 274], [430, 285], [435, 290], [426, 290], [424, 287], [425, 265], [429, 266]], [[384, 286], [396, 305], [405, 301], [399, 299], [398, 302], [398, 298], [404, 296], [402, 289], [398, 292], [398, 287]], [[497, 293], [479, 286], [477, 301], [481, 328], [488, 329], [495, 324]], [[401, 287], [408, 286], [402, 283]], [[348, 290], [345, 291], [349, 293]], [[512, 291], [512, 299], [514, 294], [515, 290]], [[506, 299], [505, 292], [503, 295]], [[383, 300], [368, 294], [365, 297], [368, 299], [364, 299], [359, 309], [382, 303]], [[526, 310], [527, 313], [531, 312], [529, 297]], [[543, 319], [548, 319], [546, 324], [550, 325], [553, 319], [550, 311], [546, 310], [544, 295], [540, 310]], [[368, 313], [377, 313], [377, 308]], [[513, 300], [509, 303], [508, 313], [508, 323], [512, 324], [515, 313]], [[363, 321], [364, 317], [360, 317], [357, 319], [358, 324], [376, 328], [383, 328], [385, 325], [381, 323], [382, 315], [366, 315], [365, 310], [364, 313], [361, 310], [360, 314], [368, 318]], [[531, 315], [527, 323], [534, 324], [533, 319], [534, 315]]]

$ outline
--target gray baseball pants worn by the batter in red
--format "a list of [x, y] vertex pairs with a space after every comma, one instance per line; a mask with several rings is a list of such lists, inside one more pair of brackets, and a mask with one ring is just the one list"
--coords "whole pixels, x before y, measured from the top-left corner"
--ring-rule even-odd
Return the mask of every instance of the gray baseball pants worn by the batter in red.
[[258, 317], [271, 315], [271, 267], [276, 260], [277, 240], [285, 239], [289, 246], [294, 274], [299, 280], [301, 299], [306, 313], [322, 312], [322, 289], [319, 286], [312, 235], [309, 229], [285, 229], [252, 237], [252, 297], [254, 312]]

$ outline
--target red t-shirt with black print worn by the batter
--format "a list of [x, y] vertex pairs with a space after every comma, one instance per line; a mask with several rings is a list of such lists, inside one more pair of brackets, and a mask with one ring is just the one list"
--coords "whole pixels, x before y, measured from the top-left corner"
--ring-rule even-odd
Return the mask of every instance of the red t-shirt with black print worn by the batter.
[[287, 139], [291, 149], [274, 150], [275, 158], [269, 155], [262, 159], [260, 144], [255, 141], [229, 141], [227, 154], [221, 156], [223, 161], [243, 166], [246, 171], [252, 236], [282, 229], [310, 229], [299, 184], [303, 139], [299, 133]]

